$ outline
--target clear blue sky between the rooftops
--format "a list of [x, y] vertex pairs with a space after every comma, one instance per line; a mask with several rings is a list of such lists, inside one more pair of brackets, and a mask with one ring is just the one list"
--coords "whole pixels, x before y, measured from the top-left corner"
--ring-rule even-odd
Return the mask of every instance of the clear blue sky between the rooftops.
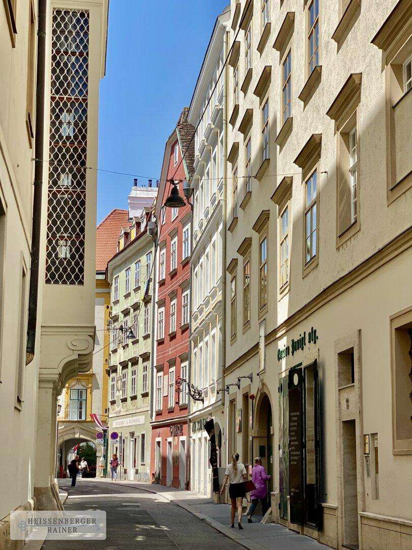
[[[215, 19], [229, 0], [111, 0], [100, 85], [99, 168], [159, 177], [189, 105]], [[98, 172], [97, 221], [127, 208], [132, 176]]]

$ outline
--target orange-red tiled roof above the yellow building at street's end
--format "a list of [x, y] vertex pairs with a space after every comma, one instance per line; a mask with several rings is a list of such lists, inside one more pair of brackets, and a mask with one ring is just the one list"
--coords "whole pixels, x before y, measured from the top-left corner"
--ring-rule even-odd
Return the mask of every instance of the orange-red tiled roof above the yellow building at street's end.
[[116, 254], [121, 228], [129, 226], [129, 211], [115, 208], [97, 226], [96, 271], [105, 271]]

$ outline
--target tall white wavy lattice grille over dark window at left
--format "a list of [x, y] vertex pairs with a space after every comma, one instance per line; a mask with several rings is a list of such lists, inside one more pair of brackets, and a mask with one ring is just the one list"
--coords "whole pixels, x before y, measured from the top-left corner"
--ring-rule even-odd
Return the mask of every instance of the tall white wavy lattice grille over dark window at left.
[[53, 10], [46, 283], [83, 284], [89, 13]]

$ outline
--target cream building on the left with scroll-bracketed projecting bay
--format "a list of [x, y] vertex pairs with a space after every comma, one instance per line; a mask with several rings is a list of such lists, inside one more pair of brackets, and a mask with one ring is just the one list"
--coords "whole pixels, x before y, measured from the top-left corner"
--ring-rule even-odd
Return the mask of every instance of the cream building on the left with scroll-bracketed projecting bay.
[[[2, 480], [1, 544], [10, 542], [10, 511], [61, 507], [57, 397], [91, 367], [96, 173], [85, 164], [97, 166], [107, 7], [40, 0], [0, 8], [1, 437], [13, 465]], [[66, 171], [67, 161], [75, 168]]]

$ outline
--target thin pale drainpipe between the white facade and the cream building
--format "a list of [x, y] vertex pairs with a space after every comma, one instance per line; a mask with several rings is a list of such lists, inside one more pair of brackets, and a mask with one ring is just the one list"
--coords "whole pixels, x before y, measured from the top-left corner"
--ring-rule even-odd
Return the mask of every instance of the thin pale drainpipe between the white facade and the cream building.
[[[227, 37], [228, 32], [224, 36], [224, 59], [227, 57]], [[225, 365], [226, 365], [226, 181], [227, 181], [227, 64], [225, 65], [224, 86], [223, 86], [223, 197], [222, 197], [222, 371], [221, 371], [221, 387], [225, 387]], [[226, 392], [220, 392], [222, 406], [225, 405]], [[227, 437], [227, 434], [226, 434]]]

